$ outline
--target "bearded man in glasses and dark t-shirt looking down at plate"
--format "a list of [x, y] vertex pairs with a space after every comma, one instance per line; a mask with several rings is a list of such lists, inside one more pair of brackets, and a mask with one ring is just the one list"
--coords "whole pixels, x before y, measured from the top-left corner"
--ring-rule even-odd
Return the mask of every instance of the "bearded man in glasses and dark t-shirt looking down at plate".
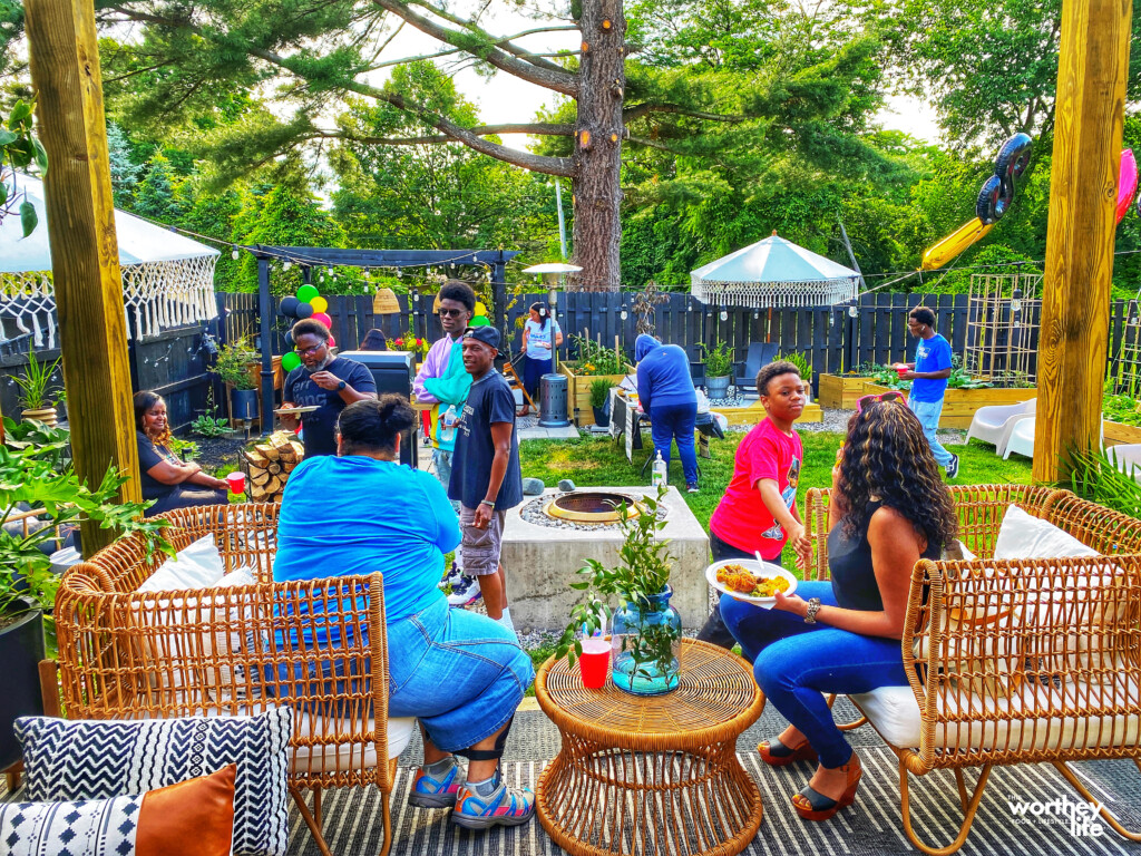
[[[317, 410], [302, 413], [301, 439], [305, 457], [337, 454], [337, 418], [353, 402], [377, 397], [377, 381], [365, 366], [329, 350], [329, 328], [319, 321], [302, 318], [293, 325], [293, 349], [301, 365], [285, 378], [282, 393], [286, 407]], [[297, 428], [298, 417], [283, 415], [282, 425]]]

